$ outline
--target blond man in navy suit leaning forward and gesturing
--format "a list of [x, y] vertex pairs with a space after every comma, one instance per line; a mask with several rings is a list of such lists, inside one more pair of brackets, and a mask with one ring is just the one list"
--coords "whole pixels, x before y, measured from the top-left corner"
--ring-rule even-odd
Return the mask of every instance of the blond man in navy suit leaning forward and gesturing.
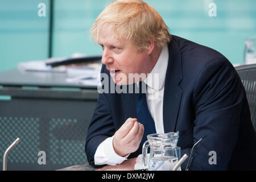
[[[147, 134], [179, 131], [181, 156], [189, 156], [207, 135], [190, 170], [255, 169], [256, 135], [245, 89], [226, 57], [170, 35], [161, 16], [141, 0], [110, 3], [92, 36], [102, 47], [101, 73], [109, 84], [102, 86], [88, 129], [85, 152], [91, 165], [133, 170]], [[108, 92], [111, 85], [143, 83], [144, 94]]]

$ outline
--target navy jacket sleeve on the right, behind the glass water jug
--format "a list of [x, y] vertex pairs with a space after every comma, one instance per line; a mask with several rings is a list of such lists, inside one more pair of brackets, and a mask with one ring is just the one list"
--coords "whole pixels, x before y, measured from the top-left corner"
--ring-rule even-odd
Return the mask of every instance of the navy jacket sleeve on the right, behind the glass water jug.
[[[243, 113], [245, 104], [245, 89], [227, 59], [212, 60], [201, 69], [193, 92], [196, 116], [193, 143], [205, 135], [207, 137], [197, 144], [189, 170], [228, 169], [242, 115], [248, 115], [248, 112]], [[191, 149], [181, 150], [181, 156], [185, 153], [189, 156]], [[187, 163], [183, 163], [182, 168], [186, 166]]]

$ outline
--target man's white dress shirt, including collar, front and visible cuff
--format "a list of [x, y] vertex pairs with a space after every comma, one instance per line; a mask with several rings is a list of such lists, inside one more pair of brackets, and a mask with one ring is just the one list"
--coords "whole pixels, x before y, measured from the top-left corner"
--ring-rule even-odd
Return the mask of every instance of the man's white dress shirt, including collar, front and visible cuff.
[[[151, 73], [143, 80], [147, 84], [146, 100], [148, 110], [151, 117], [155, 121], [156, 133], [164, 133], [163, 127], [163, 95], [164, 81], [166, 78], [166, 70], [169, 59], [169, 51], [167, 44], [163, 47], [159, 59], [152, 69]], [[114, 136], [113, 136], [114, 137]], [[115, 153], [113, 148], [113, 137], [105, 139], [97, 148], [94, 155], [94, 164], [108, 164], [114, 166], [121, 164], [127, 159]]]

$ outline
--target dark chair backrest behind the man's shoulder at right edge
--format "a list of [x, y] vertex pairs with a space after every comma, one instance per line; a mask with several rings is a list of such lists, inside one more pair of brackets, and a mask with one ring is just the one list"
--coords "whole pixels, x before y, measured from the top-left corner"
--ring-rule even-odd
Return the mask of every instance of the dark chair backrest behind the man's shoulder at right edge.
[[256, 130], [256, 64], [247, 64], [235, 68], [245, 87], [251, 112], [251, 121]]

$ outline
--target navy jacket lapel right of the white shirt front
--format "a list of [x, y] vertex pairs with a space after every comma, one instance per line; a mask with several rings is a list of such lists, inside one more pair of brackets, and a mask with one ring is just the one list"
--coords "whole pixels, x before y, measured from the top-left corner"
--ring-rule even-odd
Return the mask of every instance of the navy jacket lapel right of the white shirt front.
[[174, 132], [177, 114], [183, 94], [179, 83], [182, 80], [180, 49], [174, 39], [169, 44], [169, 60], [164, 82], [163, 123], [164, 133]]

